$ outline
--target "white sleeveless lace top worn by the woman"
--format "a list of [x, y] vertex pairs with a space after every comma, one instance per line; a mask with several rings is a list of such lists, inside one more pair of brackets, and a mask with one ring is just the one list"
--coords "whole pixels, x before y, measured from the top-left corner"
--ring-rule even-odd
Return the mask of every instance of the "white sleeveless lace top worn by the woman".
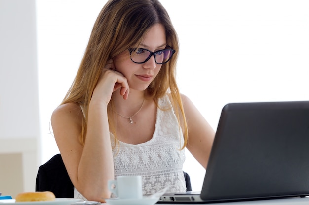
[[[158, 100], [160, 108], [171, 108], [168, 96]], [[181, 133], [181, 134], [180, 134]], [[122, 175], [141, 175], [143, 194], [152, 194], [169, 187], [167, 192], [185, 192], [183, 174], [185, 150], [182, 131], [174, 110], [157, 109], [155, 130], [151, 140], [137, 144], [119, 141], [115, 144], [111, 134], [115, 178]], [[83, 198], [77, 190], [74, 197]]]

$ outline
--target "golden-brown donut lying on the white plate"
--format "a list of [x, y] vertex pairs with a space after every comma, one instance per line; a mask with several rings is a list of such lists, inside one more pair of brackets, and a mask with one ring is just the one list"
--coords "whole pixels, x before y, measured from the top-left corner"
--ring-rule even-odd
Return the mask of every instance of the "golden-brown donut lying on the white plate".
[[55, 198], [54, 193], [50, 191], [23, 192], [17, 194], [15, 202], [54, 201]]

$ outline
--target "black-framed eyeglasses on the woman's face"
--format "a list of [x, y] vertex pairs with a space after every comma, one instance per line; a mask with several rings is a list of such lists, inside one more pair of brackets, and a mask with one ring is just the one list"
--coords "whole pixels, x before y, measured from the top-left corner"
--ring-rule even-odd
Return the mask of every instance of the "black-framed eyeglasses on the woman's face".
[[154, 56], [154, 61], [157, 64], [167, 63], [175, 53], [173, 49], [162, 49], [155, 52], [145, 48], [130, 48], [129, 49], [132, 62], [142, 64], [147, 62], [151, 56]]

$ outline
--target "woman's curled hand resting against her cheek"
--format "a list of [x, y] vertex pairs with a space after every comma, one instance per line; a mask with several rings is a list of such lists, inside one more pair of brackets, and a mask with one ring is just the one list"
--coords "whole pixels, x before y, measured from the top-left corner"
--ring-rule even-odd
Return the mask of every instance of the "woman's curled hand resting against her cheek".
[[106, 105], [110, 102], [113, 92], [120, 88], [120, 95], [127, 99], [129, 85], [122, 73], [116, 71], [113, 59], [110, 59], [102, 69], [100, 79], [93, 91], [91, 100], [103, 101]]

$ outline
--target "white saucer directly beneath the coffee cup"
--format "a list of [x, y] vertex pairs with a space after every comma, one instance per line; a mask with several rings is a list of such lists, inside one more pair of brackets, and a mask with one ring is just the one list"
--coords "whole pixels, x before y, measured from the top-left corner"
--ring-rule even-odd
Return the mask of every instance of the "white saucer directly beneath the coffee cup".
[[106, 199], [109, 205], [154, 205], [159, 200], [159, 197], [150, 198], [143, 197], [142, 199]]

